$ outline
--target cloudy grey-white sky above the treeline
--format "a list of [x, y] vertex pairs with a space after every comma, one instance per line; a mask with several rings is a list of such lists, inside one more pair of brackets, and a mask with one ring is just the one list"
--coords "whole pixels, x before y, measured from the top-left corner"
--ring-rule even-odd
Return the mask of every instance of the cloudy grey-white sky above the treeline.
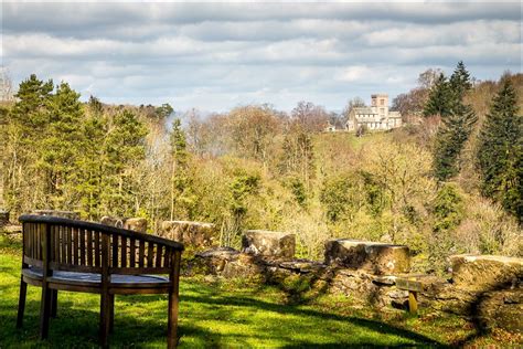
[[348, 99], [416, 85], [428, 67], [521, 72], [519, 2], [2, 2], [2, 65], [82, 98], [227, 110]]

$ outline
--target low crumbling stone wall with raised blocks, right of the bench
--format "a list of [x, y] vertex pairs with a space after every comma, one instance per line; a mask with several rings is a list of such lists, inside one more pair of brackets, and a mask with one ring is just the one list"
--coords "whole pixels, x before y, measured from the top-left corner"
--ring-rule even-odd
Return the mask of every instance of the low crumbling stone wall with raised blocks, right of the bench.
[[356, 305], [377, 308], [406, 308], [408, 292], [398, 288], [396, 281], [413, 279], [421, 284], [420, 307], [470, 317], [481, 328], [523, 330], [521, 258], [453, 256], [452, 277], [446, 279], [409, 274], [407, 246], [329, 240], [324, 262], [316, 262], [293, 258], [295, 239], [292, 234], [248, 231], [242, 251], [218, 247], [196, 253], [185, 272], [252, 277], [281, 286], [289, 297], [310, 292], [342, 294]]

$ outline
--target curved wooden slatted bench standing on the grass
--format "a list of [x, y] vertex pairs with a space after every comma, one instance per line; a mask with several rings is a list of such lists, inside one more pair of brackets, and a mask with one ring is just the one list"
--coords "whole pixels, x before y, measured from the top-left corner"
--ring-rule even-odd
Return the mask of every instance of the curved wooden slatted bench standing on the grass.
[[168, 294], [168, 348], [178, 343], [178, 292], [183, 245], [97, 223], [22, 215], [23, 261], [17, 327], [28, 284], [42, 287], [40, 337], [56, 316], [58, 290], [100, 294], [99, 340], [108, 346], [115, 295]]

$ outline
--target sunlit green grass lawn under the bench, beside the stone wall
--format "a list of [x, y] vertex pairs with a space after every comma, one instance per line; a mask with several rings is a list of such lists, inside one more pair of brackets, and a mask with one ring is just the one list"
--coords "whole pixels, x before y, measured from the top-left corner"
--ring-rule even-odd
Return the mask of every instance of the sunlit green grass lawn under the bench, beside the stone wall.
[[[99, 296], [58, 295], [58, 316], [49, 339], [40, 341], [40, 288], [29, 286], [24, 327], [15, 329], [20, 283], [20, 244], [0, 234], [0, 348], [96, 347]], [[322, 296], [307, 305], [288, 304], [276, 287], [241, 282], [205, 283], [182, 278], [179, 317], [181, 348], [335, 348], [369, 346], [447, 346], [473, 337], [456, 317], [398, 310], [382, 315], [351, 307], [350, 299]], [[167, 297], [117, 296], [113, 347], [166, 346]], [[476, 338], [478, 342], [495, 338]]]

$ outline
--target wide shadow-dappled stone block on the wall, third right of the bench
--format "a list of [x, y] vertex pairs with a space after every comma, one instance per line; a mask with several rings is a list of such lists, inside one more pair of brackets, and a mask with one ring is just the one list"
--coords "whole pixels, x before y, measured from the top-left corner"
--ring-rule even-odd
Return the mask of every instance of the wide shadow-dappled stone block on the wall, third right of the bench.
[[375, 275], [408, 273], [407, 246], [378, 242], [332, 239], [325, 243], [325, 264], [364, 269]]

